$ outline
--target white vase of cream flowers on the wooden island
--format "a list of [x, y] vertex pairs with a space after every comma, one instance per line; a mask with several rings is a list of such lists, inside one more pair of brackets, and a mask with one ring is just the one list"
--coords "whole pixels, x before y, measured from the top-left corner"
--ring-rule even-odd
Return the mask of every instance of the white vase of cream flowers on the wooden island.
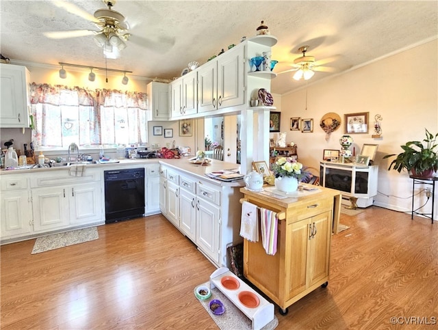
[[281, 157], [272, 165], [275, 187], [279, 191], [292, 193], [298, 189], [298, 181], [307, 175], [302, 164], [292, 157]]

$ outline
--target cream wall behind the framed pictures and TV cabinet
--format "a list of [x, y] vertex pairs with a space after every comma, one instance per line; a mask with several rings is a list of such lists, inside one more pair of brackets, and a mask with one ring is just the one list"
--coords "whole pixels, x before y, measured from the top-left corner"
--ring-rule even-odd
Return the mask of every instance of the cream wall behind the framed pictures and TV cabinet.
[[[378, 195], [374, 197], [374, 204], [394, 210], [411, 210], [412, 180], [406, 171], [401, 174], [387, 171], [391, 159], [382, 158], [385, 154], [402, 152], [400, 146], [407, 141], [424, 139], [424, 128], [434, 134], [438, 132], [437, 72], [437, 40], [434, 40], [320, 83], [309, 83], [307, 110], [305, 89], [282, 95], [281, 131], [287, 132], [287, 142], [294, 141], [298, 145], [302, 163], [319, 168], [324, 149], [340, 149], [344, 115], [369, 112], [369, 133], [351, 136], [356, 153], [363, 143], [379, 145], [376, 155]], [[320, 120], [328, 112], [339, 114], [342, 125], [326, 139]], [[371, 137], [376, 114], [383, 118], [380, 139]], [[313, 133], [289, 130], [292, 117], [313, 118]], [[418, 187], [416, 191], [420, 189]], [[435, 197], [438, 199], [438, 195]], [[424, 194], [415, 198], [415, 205], [423, 203]]]

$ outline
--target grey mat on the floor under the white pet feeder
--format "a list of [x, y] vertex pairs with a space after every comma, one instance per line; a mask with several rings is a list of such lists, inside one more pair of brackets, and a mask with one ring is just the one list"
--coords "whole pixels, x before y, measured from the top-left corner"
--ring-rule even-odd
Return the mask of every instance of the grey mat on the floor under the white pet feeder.
[[[201, 285], [205, 285], [209, 287], [210, 283], [209, 281], [207, 281], [206, 283]], [[222, 301], [225, 307], [224, 314], [215, 315], [213, 314], [213, 312], [211, 312], [208, 305], [211, 299], [219, 299], [220, 301]], [[253, 329], [253, 324], [250, 321], [250, 319], [247, 318], [246, 315], [243, 314], [241, 310], [239, 310], [239, 308], [235, 307], [235, 305], [231, 301], [229, 301], [229, 299], [225, 297], [225, 295], [222, 292], [220, 292], [218, 288], [214, 288], [211, 290], [210, 299], [198, 300], [198, 301], [201, 303], [201, 305], [203, 305], [205, 310], [208, 312], [209, 316], [211, 316], [211, 318], [214, 320], [214, 322], [216, 322], [216, 325], [218, 325], [218, 327], [221, 330]], [[276, 318], [276, 316], [274, 315], [274, 320], [269, 322], [261, 329], [272, 330], [275, 329], [278, 325], [279, 325], [279, 319]]]

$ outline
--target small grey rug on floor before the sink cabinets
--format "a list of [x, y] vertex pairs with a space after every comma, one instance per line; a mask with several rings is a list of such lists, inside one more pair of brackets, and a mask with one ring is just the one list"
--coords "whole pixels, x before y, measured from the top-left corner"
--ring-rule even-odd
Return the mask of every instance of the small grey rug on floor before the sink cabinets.
[[59, 249], [60, 247], [68, 247], [68, 245], [88, 242], [90, 240], [96, 240], [97, 238], [99, 238], [99, 234], [96, 227], [38, 237], [36, 238], [31, 254]]

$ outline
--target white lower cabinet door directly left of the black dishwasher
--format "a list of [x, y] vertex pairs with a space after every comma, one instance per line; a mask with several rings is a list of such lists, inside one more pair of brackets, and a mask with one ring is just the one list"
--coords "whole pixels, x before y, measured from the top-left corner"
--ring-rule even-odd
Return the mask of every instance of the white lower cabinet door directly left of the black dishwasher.
[[101, 184], [93, 182], [67, 188], [70, 195], [70, 223], [93, 223], [103, 219]]

